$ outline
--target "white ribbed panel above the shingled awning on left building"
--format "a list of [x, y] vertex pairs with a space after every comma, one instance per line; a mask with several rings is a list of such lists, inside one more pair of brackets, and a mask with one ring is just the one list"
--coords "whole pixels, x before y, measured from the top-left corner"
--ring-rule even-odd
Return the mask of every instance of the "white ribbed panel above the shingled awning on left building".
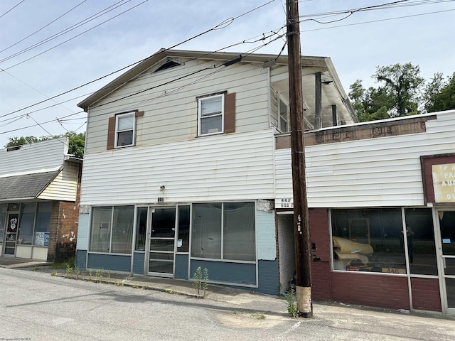
[[0, 150], [0, 176], [58, 169], [68, 153], [68, 138], [53, 139], [21, 146], [15, 151]]

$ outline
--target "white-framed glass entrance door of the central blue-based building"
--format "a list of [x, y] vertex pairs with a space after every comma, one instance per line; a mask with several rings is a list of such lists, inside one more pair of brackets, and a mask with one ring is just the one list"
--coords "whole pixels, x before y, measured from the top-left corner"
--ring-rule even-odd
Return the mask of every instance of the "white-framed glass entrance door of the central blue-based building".
[[176, 240], [176, 207], [151, 210], [148, 241], [148, 275], [173, 277]]

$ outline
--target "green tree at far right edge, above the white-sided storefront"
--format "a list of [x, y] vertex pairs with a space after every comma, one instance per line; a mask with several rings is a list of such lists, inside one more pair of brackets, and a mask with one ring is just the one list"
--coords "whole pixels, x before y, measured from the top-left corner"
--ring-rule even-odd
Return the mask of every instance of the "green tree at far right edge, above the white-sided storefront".
[[427, 112], [455, 109], [455, 72], [446, 82], [441, 73], [435, 73], [425, 88], [424, 101]]

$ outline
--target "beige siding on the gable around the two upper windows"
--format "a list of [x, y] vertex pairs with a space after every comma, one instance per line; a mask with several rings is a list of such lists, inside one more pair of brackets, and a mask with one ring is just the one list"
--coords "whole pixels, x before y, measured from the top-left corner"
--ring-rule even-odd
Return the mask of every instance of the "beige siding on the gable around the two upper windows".
[[[196, 98], [217, 92], [236, 93], [236, 132], [269, 128], [269, 85], [262, 68], [237, 63], [222, 70], [213, 69], [213, 60], [182, 62], [185, 65], [165, 72], [144, 72], [90, 108], [85, 155], [105, 151], [109, 117], [133, 109], [144, 111], [144, 116], [137, 118], [137, 146], [193, 139], [198, 133]], [[174, 81], [205, 67], [208, 70]], [[149, 88], [153, 89], [121, 99]], [[107, 102], [112, 103], [96, 107]]]

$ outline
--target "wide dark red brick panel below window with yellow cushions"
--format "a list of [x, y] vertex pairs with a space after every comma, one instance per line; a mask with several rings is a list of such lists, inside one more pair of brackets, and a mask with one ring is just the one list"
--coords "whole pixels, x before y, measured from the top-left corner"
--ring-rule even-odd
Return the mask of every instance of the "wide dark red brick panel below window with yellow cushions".
[[331, 286], [332, 298], [335, 301], [380, 308], [410, 309], [406, 277], [333, 271]]

